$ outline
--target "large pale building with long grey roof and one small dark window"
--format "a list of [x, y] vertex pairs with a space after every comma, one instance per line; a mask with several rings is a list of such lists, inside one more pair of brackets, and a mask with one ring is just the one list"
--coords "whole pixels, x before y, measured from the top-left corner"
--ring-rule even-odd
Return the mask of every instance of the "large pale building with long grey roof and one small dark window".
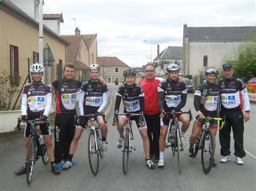
[[183, 64], [185, 75], [199, 75], [207, 67], [220, 68], [221, 59], [247, 39], [251, 26], [183, 26]]

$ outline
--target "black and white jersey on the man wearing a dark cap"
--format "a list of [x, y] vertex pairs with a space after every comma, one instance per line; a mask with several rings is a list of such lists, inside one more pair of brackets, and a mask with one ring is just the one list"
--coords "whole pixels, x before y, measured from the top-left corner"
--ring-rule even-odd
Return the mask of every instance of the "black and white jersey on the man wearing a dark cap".
[[250, 101], [244, 82], [237, 78], [221, 79], [220, 97], [221, 109], [240, 110], [242, 111], [242, 99], [244, 100], [245, 110], [250, 110]]

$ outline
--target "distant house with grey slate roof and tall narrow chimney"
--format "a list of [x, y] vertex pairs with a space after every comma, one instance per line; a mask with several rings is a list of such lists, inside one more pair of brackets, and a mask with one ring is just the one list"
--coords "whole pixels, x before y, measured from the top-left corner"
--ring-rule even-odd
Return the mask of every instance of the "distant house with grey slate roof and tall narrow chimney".
[[177, 63], [180, 66], [180, 73], [183, 73], [183, 47], [168, 46], [159, 54], [159, 45], [157, 45], [157, 57], [154, 58], [156, 67], [156, 76], [164, 77], [166, 68], [171, 63]]

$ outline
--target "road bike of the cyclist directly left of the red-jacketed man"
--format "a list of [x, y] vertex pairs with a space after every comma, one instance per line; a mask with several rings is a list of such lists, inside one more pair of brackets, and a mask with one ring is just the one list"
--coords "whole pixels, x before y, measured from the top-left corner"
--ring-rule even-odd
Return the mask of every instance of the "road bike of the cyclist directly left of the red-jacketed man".
[[124, 174], [126, 174], [127, 169], [128, 169], [128, 162], [129, 162], [129, 153], [132, 152], [132, 149], [135, 151], [136, 150], [136, 146], [132, 146], [132, 140], [133, 138], [133, 132], [132, 132], [132, 121], [131, 121], [131, 117], [132, 116], [139, 116], [139, 123], [143, 123], [143, 117], [142, 114], [131, 114], [131, 113], [118, 113], [118, 112], [114, 112], [114, 122], [117, 122], [118, 120], [118, 115], [119, 116], [125, 116], [126, 117], [126, 124], [124, 126], [124, 140], [123, 140], [123, 172]]

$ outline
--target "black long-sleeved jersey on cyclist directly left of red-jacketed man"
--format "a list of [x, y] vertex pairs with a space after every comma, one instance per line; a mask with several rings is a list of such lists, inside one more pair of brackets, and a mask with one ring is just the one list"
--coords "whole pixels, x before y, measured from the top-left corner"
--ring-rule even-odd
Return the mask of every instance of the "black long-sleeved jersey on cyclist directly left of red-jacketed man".
[[119, 111], [121, 99], [123, 98], [124, 112], [143, 112], [145, 108], [143, 88], [134, 83], [132, 87], [125, 84], [117, 90], [114, 110]]

